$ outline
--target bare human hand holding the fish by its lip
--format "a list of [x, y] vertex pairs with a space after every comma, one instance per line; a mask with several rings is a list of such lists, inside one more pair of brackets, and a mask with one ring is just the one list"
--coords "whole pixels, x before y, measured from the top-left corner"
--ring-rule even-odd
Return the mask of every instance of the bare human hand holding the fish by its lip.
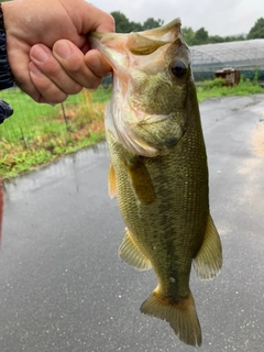
[[2, 11], [12, 74], [35, 101], [62, 102], [111, 70], [87, 33], [112, 32], [113, 19], [85, 0], [13, 0]]

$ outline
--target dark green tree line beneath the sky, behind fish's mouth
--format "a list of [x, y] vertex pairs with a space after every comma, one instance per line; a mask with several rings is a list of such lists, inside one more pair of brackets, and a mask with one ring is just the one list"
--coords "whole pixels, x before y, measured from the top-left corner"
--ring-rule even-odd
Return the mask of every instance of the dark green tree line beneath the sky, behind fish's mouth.
[[[164, 24], [164, 21], [158, 19], [154, 20], [148, 18], [143, 24], [140, 22], [131, 22], [122, 12], [114, 11], [111, 15], [116, 21], [117, 33], [130, 33], [139, 32], [144, 30], [151, 30]], [[194, 31], [191, 28], [182, 28], [184, 38], [188, 45], [201, 45], [210, 43], [223, 43], [223, 42], [235, 42], [253, 38], [264, 38], [264, 19], [260, 18], [252, 26], [250, 32], [245, 35], [209, 35], [208, 31], [202, 26], [198, 31]]]

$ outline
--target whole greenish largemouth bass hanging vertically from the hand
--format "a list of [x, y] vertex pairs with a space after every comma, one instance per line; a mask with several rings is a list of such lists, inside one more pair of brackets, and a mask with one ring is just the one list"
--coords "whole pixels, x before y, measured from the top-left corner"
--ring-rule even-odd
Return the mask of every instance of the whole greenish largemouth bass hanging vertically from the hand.
[[180, 20], [140, 33], [92, 33], [113, 69], [106, 109], [109, 194], [127, 226], [122, 261], [158, 280], [141, 311], [169, 322], [187, 344], [201, 344], [189, 288], [222, 264], [209, 211], [208, 167], [190, 53]]

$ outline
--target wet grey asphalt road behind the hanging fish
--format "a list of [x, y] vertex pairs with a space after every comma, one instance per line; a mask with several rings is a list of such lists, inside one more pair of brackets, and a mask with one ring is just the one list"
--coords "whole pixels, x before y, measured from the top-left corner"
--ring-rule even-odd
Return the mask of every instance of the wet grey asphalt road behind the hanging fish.
[[99, 144], [4, 185], [1, 352], [264, 351], [264, 157], [252, 147], [264, 96], [212, 99], [200, 110], [224, 257], [212, 282], [191, 274], [202, 346], [140, 314], [156, 279], [118, 258], [123, 222]]

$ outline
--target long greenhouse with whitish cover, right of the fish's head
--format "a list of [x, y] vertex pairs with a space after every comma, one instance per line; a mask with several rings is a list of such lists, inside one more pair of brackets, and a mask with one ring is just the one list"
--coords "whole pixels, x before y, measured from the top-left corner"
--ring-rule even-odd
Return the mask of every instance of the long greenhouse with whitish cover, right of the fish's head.
[[244, 77], [264, 80], [264, 38], [190, 46], [193, 70], [196, 79], [213, 77], [217, 70], [232, 67]]

